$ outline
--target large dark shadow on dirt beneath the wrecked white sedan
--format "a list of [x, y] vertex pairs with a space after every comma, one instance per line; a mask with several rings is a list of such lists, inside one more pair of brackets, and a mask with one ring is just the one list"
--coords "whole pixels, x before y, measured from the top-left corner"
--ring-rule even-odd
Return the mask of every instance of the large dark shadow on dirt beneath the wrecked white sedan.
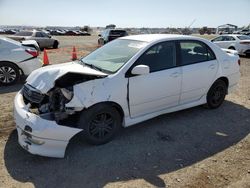
[[159, 177], [190, 166], [236, 144], [250, 132], [250, 110], [225, 101], [216, 110], [195, 107], [123, 129], [110, 143], [90, 146], [75, 137], [64, 159], [31, 155], [9, 136], [4, 161], [12, 178], [35, 187], [103, 187], [144, 179], [165, 187]]

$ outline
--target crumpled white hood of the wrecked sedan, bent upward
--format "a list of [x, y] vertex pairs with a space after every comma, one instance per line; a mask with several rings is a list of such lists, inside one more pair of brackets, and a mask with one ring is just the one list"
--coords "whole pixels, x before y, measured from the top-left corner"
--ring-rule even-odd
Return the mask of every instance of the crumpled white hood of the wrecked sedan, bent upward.
[[88, 66], [76, 62], [49, 65], [33, 71], [27, 78], [27, 83], [32, 87], [47, 93], [54, 87], [55, 81], [67, 73], [79, 73], [83, 75], [106, 76], [107, 74], [91, 69]]

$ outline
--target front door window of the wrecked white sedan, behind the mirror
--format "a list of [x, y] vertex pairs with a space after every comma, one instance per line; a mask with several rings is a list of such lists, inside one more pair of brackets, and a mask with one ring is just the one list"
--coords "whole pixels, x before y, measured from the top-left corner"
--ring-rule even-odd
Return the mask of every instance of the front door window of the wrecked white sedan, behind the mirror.
[[154, 45], [136, 61], [135, 65], [147, 65], [150, 68], [150, 72], [175, 67], [175, 42], [162, 42]]

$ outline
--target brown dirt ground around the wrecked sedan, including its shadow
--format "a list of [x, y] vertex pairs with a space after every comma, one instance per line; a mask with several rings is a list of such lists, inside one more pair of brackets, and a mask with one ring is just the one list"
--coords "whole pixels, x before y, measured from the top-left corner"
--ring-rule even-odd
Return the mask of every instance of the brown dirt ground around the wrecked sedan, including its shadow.
[[[97, 46], [97, 37], [57, 37], [50, 63]], [[13, 99], [24, 81], [0, 88], [0, 187], [250, 187], [250, 58], [235, 92], [216, 110], [202, 106], [123, 129], [110, 143], [76, 137], [64, 159], [31, 155], [17, 143]]]

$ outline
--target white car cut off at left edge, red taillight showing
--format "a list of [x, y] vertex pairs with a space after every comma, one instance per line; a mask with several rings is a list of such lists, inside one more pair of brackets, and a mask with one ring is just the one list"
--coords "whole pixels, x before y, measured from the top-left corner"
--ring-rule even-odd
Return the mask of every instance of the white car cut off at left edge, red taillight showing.
[[0, 85], [16, 83], [22, 75], [29, 75], [42, 66], [37, 58], [39, 52], [30, 46], [34, 42], [21, 44], [9, 38], [0, 37]]

